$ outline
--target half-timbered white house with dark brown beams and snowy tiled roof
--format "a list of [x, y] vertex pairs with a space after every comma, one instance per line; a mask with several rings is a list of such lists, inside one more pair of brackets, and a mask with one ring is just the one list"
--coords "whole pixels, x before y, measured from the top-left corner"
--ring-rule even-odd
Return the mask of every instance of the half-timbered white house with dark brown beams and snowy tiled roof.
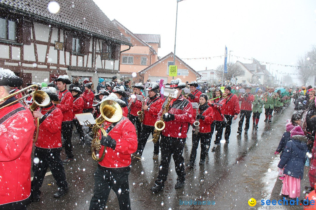
[[120, 46], [132, 44], [93, 0], [60, 0], [52, 13], [49, 3], [0, 1], [0, 66], [24, 83], [119, 75]]

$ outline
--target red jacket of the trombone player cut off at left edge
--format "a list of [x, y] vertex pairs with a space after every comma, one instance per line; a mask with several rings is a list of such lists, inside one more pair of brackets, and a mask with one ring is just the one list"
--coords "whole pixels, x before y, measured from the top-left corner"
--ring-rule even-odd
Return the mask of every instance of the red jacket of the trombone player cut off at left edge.
[[21, 111], [0, 124], [0, 205], [4, 204], [1, 206], [3, 209], [9, 209], [10, 202], [23, 202], [31, 195], [31, 153], [35, 130], [32, 113], [15, 103], [1, 109], [0, 118], [18, 108]]

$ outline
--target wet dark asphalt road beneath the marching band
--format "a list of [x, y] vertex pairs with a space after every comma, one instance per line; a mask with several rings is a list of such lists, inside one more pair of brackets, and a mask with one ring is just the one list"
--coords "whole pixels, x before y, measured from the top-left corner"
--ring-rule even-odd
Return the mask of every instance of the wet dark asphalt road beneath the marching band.
[[[293, 110], [291, 107], [290, 109]], [[289, 115], [288, 118], [292, 114], [290, 111], [287, 111], [286, 113]], [[170, 162], [168, 179], [165, 183], [164, 190], [160, 193], [152, 193], [150, 187], [154, 185], [154, 181], [157, 177], [161, 154], [159, 154], [159, 159], [153, 160], [152, 156], [154, 144], [152, 141], [148, 142], [143, 152], [143, 159], [141, 161], [132, 161], [129, 176], [131, 209], [188, 209], [188, 206], [179, 205], [179, 199], [182, 198], [182, 200], [188, 200], [188, 198], [193, 198], [203, 201], [203, 198], [201, 197], [211, 197], [208, 196], [210, 193], [210, 187], [214, 186], [219, 178], [221, 180], [229, 179], [229, 177], [225, 175], [227, 174], [227, 171], [234, 167], [236, 162], [242, 162], [249, 153], [252, 153], [256, 148], [256, 145], [258, 145], [258, 141], [260, 142], [262, 139], [266, 139], [273, 127], [280, 125], [284, 128], [283, 121], [275, 122], [277, 118], [284, 114], [285, 113], [276, 115], [273, 118], [271, 125], [267, 125], [264, 122], [264, 114], [261, 114], [258, 130], [252, 130], [251, 118], [248, 134], [245, 135], [243, 133], [240, 136], [237, 136], [236, 133], [239, 122], [238, 117], [236, 122], [232, 124], [229, 145], [221, 144], [220, 150], [215, 153], [210, 152], [206, 157], [206, 163], [204, 166], [198, 165], [200, 148], [198, 149], [194, 168], [185, 167], [186, 180], [185, 187], [183, 189], [174, 189], [177, 175], [175, 173], [174, 162], [172, 160]], [[189, 160], [192, 146], [191, 129], [188, 133], [189, 135], [186, 139], [186, 145], [183, 152], [185, 162], [188, 162]], [[150, 139], [151, 137], [149, 137], [149, 140]], [[212, 142], [214, 139], [215, 135], [212, 137]], [[90, 199], [93, 195], [93, 176], [97, 163], [93, 161], [89, 154], [87, 154], [86, 147], [79, 146], [78, 142], [78, 136], [74, 133], [73, 146], [75, 148], [73, 151], [76, 162], [64, 166], [67, 181], [70, 184], [69, 192], [62, 198], [53, 198], [52, 195], [57, 190], [57, 185], [55, 184], [55, 180], [52, 175], [48, 173], [41, 187], [42, 194], [40, 202], [31, 203], [27, 207], [28, 210], [89, 208]], [[64, 150], [62, 151], [62, 158], [65, 158]], [[212, 193], [216, 194], [216, 191], [212, 191]], [[215, 206], [210, 206], [212, 209], [214, 209], [214, 207]], [[117, 197], [113, 191], [111, 191], [109, 195], [106, 209], [119, 209]], [[209, 208], [205, 206], [200, 209]]]

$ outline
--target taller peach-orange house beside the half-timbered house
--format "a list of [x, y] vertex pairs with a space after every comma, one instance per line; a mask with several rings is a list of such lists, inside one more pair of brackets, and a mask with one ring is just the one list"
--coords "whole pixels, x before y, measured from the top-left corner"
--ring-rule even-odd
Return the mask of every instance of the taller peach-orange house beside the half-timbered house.
[[[134, 34], [123, 26], [119, 21], [112, 23], [132, 43], [133, 46], [121, 45], [120, 77], [124, 80], [131, 79], [133, 82], [140, 81], [138, 72], [158, 60], [158, 48], [160, 48], [160, 35], [158, 34]], [[132, 73], [136, 73], [136, 78]]]

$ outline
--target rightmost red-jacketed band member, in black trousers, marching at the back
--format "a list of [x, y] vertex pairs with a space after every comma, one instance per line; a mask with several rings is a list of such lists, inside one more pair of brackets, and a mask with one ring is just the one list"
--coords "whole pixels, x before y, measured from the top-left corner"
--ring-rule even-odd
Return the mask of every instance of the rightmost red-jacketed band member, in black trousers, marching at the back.
[[241, 101], [239, 126], [238, 126], [238, 131], [237, 131], [237, 133], [239, 134], [241, 134], [242, 132], [242, 124], [244, 123], [245, 116], [246, 116], [245, 133], [247, 133], [249, 129], [250, 117], [251, 117], [251, 112], [252, 112], [252, 102], [255, 99], [255, 97], [250, 93], [250, 90], [251, 90], [251, 87], [246, 86], [245, 87], [246, 93], [238, 97], [238, 100]]

